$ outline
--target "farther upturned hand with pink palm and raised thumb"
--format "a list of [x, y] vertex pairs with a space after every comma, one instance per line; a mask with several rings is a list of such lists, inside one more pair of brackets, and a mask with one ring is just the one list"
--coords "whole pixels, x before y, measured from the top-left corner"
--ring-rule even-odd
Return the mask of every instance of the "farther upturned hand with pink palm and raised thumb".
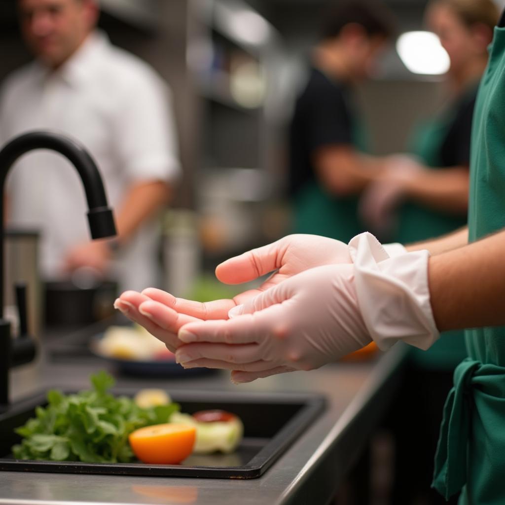
[[351, 263], [347, 244], [316, 235], [289, 235], [231, 258], [217, 267], [217, 278], [226, 284], [241, 284], [275, 271], [258, 289], [244, 291], [233, 299], [200, 303], [176, 298], [160, 289], [147, 288], [142, 293], [126, 291], [114, 306], [175, 352], [181, 345], [177, 338], [181, 326], [202, 320], [228, 319], [228, 312], [233, 307], [289, 277], [313, 267], [340, 263]]

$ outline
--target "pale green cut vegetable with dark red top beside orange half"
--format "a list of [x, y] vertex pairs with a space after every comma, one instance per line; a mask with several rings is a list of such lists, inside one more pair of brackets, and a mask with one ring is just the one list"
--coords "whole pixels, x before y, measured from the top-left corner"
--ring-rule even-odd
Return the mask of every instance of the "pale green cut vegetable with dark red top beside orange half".
[[242, 440], [244, 432], [240, 418], [225, 411], [200, 411], [192, 416], [174, 412], [170, 421], [196, 428], [196, 442], [193, 448], [195, 454], [233, 452]]

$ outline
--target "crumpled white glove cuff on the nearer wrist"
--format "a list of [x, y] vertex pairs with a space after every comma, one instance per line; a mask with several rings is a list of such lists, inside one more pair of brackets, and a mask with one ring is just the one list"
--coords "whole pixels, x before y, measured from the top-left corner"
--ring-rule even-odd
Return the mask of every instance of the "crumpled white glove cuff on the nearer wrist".
[[[394, 249], [398, 251], [398, 248]], [[390, 256], [370, 233], [349, 242], [358, 304], [382, 350], [398, 341], [428, 349], [438, 339], [430, 304], [427, 250]]]

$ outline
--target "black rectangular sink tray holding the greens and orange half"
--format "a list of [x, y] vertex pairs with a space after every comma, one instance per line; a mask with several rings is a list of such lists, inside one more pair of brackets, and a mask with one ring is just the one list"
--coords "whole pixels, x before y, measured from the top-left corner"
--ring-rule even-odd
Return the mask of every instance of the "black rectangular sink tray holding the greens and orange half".
[[[113, 392], [133, 396], [136, 391], [115, 389]], [[20, 437], [14, 429], [34, 416], [35, 407], [46, 405], [45, 394], [41, 393], [0, 413], [0, 471], [254, 479], [260, 477], [325, 408], [324, 397], [314, 394], [170, 390], [170, 396], [180, 404], [181, 411], [188, 414], [223, 409], [238, 415], [244, 423], [242, 443], [231, 455], [192, 455], [181, 465], [15, 460], [11, 447]]]

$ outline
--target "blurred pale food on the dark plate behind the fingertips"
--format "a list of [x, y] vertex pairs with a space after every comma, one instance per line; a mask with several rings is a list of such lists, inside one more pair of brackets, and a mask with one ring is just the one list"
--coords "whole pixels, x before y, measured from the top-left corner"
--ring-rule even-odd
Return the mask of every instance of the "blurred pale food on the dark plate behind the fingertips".
[[175, 361], [165, 344], [138, 324], [111, 326], [96, 343], [96, 350], [102, 356], [119, 360]]

